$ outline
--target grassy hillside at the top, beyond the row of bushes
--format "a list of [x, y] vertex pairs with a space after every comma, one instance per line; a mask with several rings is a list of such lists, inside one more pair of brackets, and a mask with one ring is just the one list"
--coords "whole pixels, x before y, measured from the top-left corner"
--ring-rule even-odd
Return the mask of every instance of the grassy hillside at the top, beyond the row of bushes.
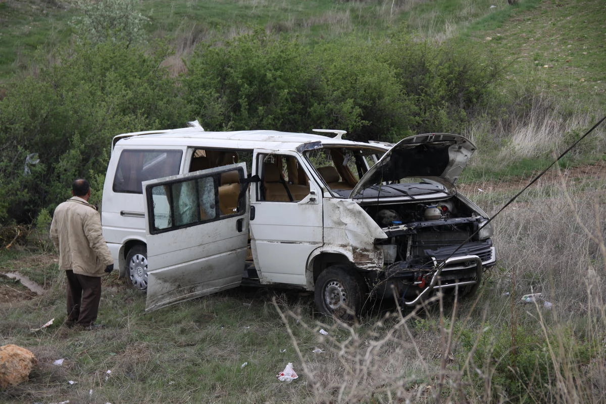
[[[37, 48], [50, 52], [69, 41], [70, 23], [81, 16], [77, 4], [0, 2], [0, 78], [26, 68]], [[257, 28], [315, 42], [343, 35], [363, 39], [405, 27], [420, 38], [477, 42], [504, 56], [510, 78], [519, 82], [536, 80], [558, 93], [590, 99], [606, 90], [606, 4], [600, 0], [520, 0], [513, 6], [505, 0], [149, 0], [138, 8], [148, 18], [149, 38], [170, 40], [178, 54], [197, 42]]]

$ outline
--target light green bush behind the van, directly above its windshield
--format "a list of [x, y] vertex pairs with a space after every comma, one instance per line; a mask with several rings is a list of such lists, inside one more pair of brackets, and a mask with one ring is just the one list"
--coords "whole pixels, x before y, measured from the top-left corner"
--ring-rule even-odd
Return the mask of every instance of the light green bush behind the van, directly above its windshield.
[[397, 69], [385, 62], [393, 49], [380, 40], [342, 41], [314, 49], [322, 98], [313, 107], [316, 122], [342, 128], [348, 139], [398, 141], [413, 134], [418, 106], [398, 82]]

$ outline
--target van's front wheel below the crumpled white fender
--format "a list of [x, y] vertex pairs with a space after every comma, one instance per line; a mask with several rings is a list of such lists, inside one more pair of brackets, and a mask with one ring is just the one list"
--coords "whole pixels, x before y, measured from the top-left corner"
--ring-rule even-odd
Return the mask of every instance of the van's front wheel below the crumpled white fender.
[[328, 267], [316, 279], [316, 309], [343, 321], [354, 320], [362, 308], [363, 288], [361, 277], [350, 267]]

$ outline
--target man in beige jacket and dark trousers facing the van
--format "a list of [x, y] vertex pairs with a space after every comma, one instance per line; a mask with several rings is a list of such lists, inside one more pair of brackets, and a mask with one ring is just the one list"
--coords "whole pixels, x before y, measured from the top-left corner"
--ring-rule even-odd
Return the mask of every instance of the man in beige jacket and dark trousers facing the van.
[[101, 276], [113, 270], [113, 258], [101, 232], [101, 217], [88, 203], [90, 185], [85, 179], [72, 184], [70, 199], [55, 209], [50, 238], [59, 250], [59, 270], [67, 276], [67, 326], [94, 329]]

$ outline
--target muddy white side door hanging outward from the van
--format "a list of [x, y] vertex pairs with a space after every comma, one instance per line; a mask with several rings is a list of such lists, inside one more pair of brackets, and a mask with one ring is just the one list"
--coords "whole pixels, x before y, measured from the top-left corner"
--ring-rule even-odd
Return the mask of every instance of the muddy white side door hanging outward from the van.
[[246, 165], [143, 183], [145, 311], [240, 285], [248, 242]]

